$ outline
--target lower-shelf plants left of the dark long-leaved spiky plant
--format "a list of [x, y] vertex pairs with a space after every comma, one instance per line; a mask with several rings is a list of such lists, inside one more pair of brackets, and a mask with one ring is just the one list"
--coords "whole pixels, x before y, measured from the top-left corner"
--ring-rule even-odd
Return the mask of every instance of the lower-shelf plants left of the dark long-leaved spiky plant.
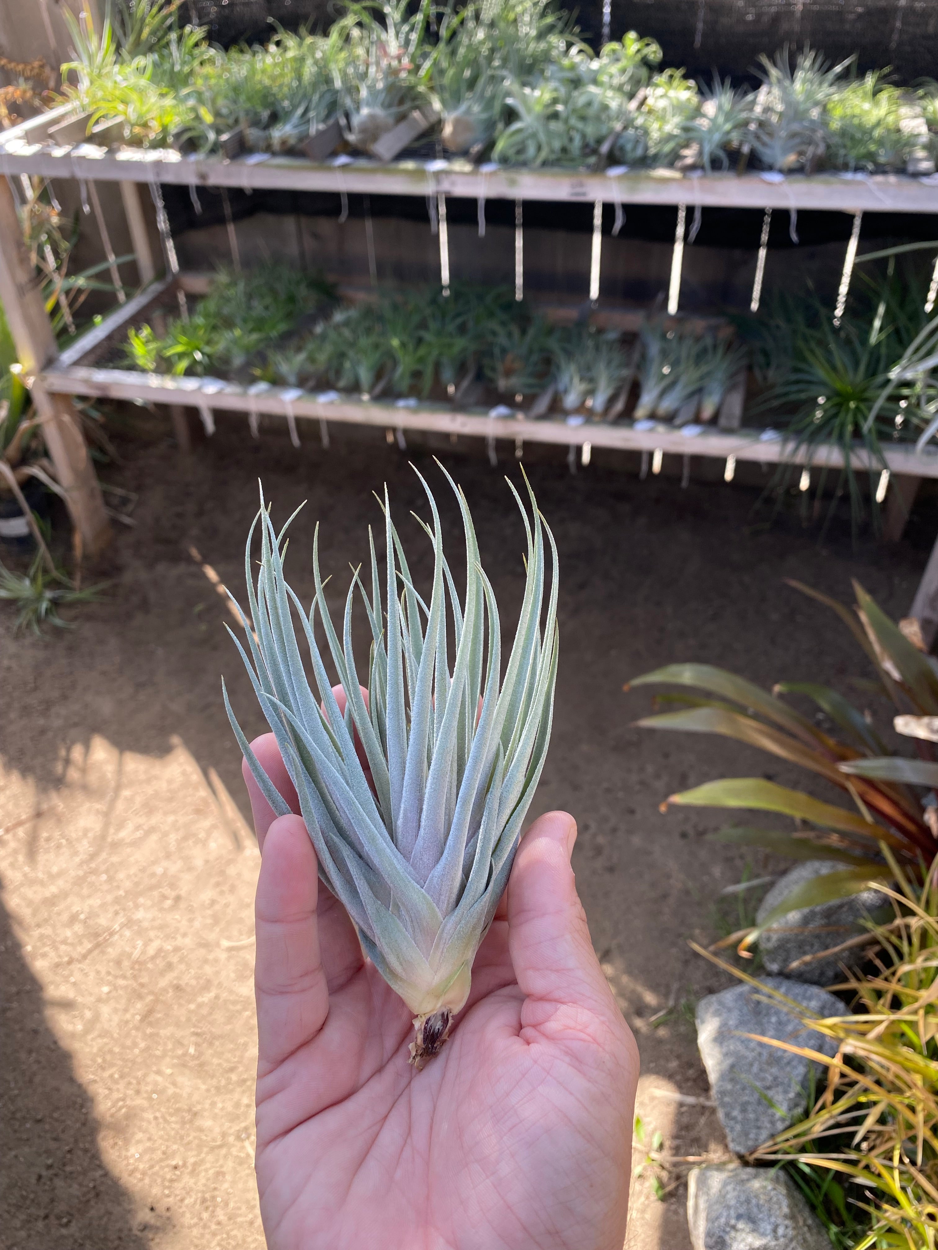
[[353, 401], [685, 425], [713, 420], [748, 350], [722, 322], [700, 332], [652, 318], [638, 335], [557, 324], [510, 286], [343, 301], [324, 279], [269, 264], [220, 271], [188, 316], [151, 315], [98, 364]]

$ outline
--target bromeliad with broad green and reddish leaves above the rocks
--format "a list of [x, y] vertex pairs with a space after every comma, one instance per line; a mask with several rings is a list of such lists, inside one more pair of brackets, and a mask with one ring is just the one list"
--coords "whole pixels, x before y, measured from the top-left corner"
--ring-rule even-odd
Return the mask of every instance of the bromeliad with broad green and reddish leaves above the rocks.
[[[717, 838], [792, 859], [833, 859], [844, 865], [789, 892], [759, 928], [734, 934], [742, 939], [740, 949], [788, 911], [859, 894], [870, 880], [890, 880], [894, 869], [884, 851], [912, 881], [920, 882], [938, 838], [933, 745], [938, 739], [938, 662], [920, 649], [918, 622], [895, 625], [857, 582], [853, 611], [809, 586], [789, 584], [832, 608], [847, 625], [897, 714], [893, 728], [915, 739], [918, 752], [912, 759], [890, 751], [864, 710], [818, 682], [784, 681], [767, 691], [709, 664], [672, 664], [630, 682], [678, 688], [658, 696], [658, 702], [675, 710], [647, 716], [639, 725], [747, 742], [807, 769], [845, 800], [828, 802], [757, 776], [707, 781], [670, 795], [662, 805], [662, 810], [674, 804], [794, 818], [790, 832], [745, 825], [724, 829]], [[820, 724], [779, 695], [813, 704]]]

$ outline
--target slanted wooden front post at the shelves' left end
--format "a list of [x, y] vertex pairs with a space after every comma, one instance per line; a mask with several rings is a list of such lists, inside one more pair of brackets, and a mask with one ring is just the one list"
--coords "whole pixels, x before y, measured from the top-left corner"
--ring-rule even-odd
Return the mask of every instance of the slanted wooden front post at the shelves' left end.
[[[0, 178], [0, 302], [20, 364], [28, 378], [35, 378], [55, 359], [58, 348], [5, 178]], [[111, 530], [75, 405], [66, 395], [49, 394], [40, 382], [33, 385], [33, 404], [80, 550], [93, 555], [106, 545]]]

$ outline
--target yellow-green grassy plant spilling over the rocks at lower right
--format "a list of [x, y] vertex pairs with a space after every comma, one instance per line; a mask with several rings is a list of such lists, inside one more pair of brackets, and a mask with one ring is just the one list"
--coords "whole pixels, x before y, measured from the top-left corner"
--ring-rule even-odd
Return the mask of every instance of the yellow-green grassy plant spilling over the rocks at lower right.
[[[938, 1222], [938, 860], [913, 876], [883, 848], [894, 884], [872, 881], [893, 919], [870, 924], [868, 970], [837, 986], [853, 1011], [819, 1020], [758, 986], [837, 1044], [833, 1056], [774, 1038], [812, 1059], [827, 1081], [812, 1110], [760, 1146], [753, 1162], [784, 1166], [843, 1250], [932, 1250]], [[699, 950], [699, 948], [697, 948]]]

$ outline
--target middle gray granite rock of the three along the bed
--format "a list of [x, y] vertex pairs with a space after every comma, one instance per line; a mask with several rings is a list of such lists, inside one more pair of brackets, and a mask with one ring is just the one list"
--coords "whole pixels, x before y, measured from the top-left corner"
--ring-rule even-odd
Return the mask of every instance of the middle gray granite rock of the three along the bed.
[[[820, 1016], [847, 1014], [839, 999], [817, 985], [782, 976], [767, 976], [762, 984]], [[734, 985], [700, 999], [697, 1044], [729, 1149], [737, 1155], [755, 1150], [804, 1114], [812, 1068], [817, 1079], [825, 1076], [820, 1064], [742, 1036], [748, 1032], [808, 1046], [825, 1055], [837, 1050], [832, 1038], [802, 1028], [783, 1004], [749, 985]]]

